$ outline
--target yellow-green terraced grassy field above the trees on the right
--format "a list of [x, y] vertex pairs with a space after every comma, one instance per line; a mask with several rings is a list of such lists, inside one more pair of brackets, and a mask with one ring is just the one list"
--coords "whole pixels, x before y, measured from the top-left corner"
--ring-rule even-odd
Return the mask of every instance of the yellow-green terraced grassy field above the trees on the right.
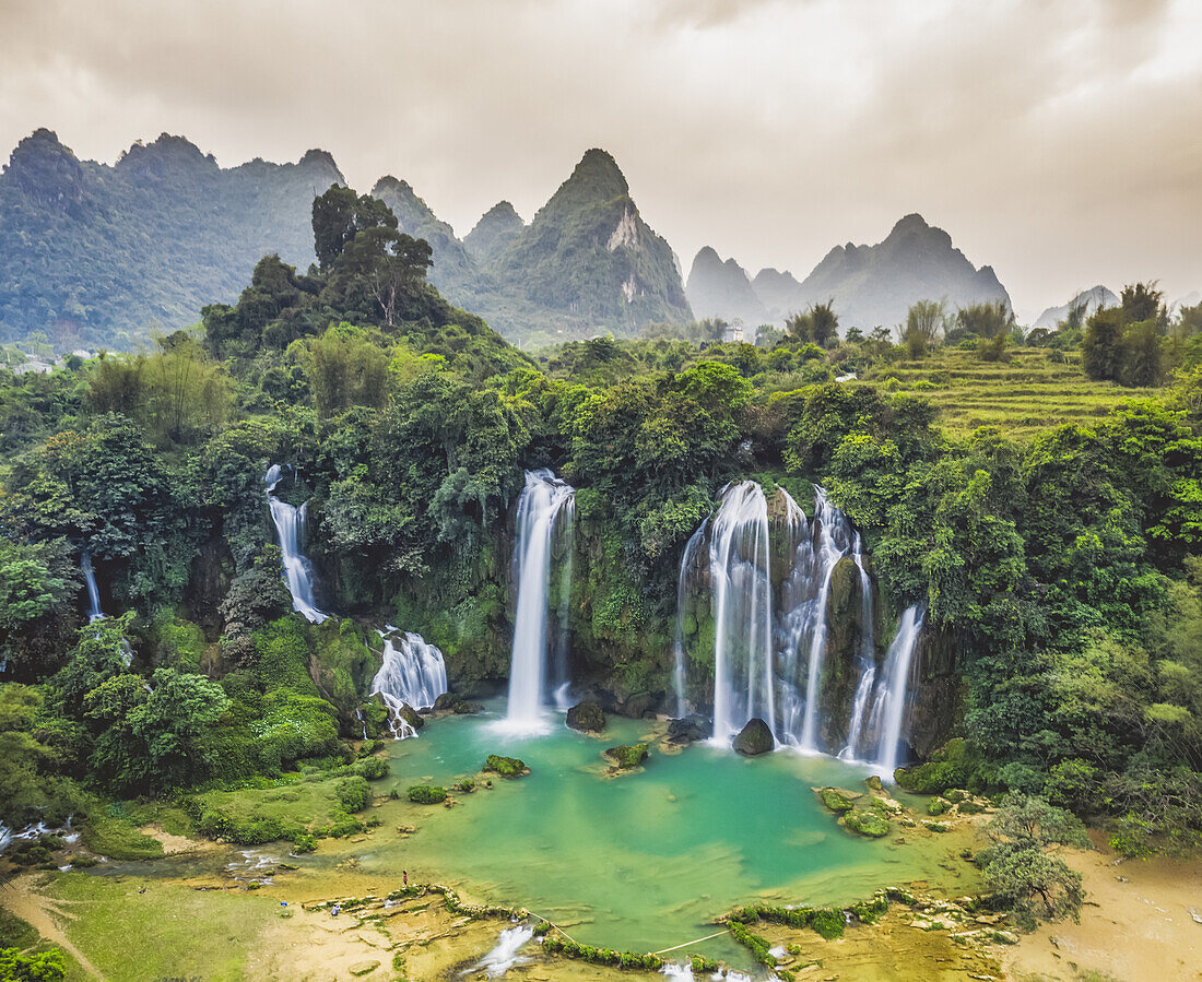
[[1006, 362], [982, 362], [972, 351], [940, 350], [920, 362], [875, 368], [864, 381], [929, 399], [951, 433], [996, 425], [1013, 438], [1029, 438], [1064, 423], [1096, 423], [1125, 401], [1164, 392], [1095, 382], [1085, 377], [1076, 351], [1061, 364], [1053, 362], [1046, 349], [1006, 353]]

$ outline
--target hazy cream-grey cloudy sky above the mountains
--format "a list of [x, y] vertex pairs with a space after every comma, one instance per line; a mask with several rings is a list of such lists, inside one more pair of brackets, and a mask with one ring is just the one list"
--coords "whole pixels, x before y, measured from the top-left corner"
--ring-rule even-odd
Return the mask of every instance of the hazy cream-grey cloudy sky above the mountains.
[[688, 267], [801, 279], [920, 212], [1020, 315], [1202, 290], [1198, 0], [0, 0], [0, 154], [333, 153], [463, 236], [589, 147]]

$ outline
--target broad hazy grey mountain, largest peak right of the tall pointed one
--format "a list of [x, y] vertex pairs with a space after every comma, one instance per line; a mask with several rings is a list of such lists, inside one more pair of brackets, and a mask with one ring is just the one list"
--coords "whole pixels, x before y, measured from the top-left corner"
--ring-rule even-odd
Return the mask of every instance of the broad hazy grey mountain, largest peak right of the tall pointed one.
[[904, 323], [918, 300], [946, 299], [950, 311], [993, 300], [1010, 305], [993, 268], [977, 269], [921, 215], [906, 215], [876, 245], [837, 245], [802, 281], [799, 299], [833, 299], [843, 331]]

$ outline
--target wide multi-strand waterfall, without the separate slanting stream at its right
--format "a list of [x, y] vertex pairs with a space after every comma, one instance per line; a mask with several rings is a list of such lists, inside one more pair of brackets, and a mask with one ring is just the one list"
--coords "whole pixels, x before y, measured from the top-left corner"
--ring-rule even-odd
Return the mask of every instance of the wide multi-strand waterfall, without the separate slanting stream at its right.
[[[688, 709], [686, 614], [708, 581], [714, 739], [728, 739], [758, 716], [781, 743], [820, 750], [827, 601], [835, 565], [849, 554], [861, 575], [865, 631], [859, 659], [873, 651], [873, 590], [861, 550], [859, 536], [822, 488], [815, 487], [809, 522], [784, 488], [769, 501], [756, 481], [728, 484], [680, 561], [673, 666], [678, 714]], [[698, 563], [702, 555], [708, 564]], [[871, 683], [865, 704], [870, 691]]]

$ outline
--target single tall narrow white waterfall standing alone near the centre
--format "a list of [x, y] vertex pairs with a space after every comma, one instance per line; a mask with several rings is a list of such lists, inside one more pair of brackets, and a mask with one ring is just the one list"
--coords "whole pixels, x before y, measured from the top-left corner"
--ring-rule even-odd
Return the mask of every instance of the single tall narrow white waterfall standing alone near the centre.
[[[576, 492], [549, 470], [526, 471], [525, 488], [518, 499], [517, 540], [513, 546], [513, 575], [518, 584], [513, 621], [513, 657], [510, 665], [507, 722], [536, 727], [546, 701], [551, 606], [551, 567], [557, 535], [572, 537]], [[569, 572], [570, 576], [570, 572]], [[563, 593], [563, 589], [561, 589]], [[561, 599], [563, 600], [563, 599]], [[563, 609], [563, 606], [561, 606]], [[561, 614], [566, 626], [566, 615]], [[566, 643], [564, 676], [566, 679]], [[552, 666], [555, 669], [555, 666]]]

